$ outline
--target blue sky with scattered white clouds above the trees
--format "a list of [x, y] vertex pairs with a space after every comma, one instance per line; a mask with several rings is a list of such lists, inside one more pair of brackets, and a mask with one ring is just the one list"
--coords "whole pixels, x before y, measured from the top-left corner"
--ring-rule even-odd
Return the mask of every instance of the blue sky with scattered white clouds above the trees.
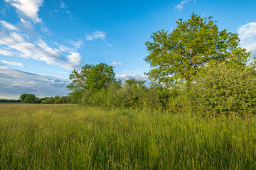
[[144, 43], [193, 11], [238, 33], [256, 54], [256, 1], [0, 0], [0, 98], [65, 95], [73, 69], [101, 62], [116, 78], [146, 79]]

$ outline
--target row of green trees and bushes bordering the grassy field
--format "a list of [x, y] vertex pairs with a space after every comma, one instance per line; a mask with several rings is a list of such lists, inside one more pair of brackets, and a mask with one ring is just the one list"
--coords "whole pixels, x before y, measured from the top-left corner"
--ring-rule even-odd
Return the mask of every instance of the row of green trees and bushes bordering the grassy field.
[[249, 63], [252, 54], [240, 47], [238, 34], [195, 13], [176, 25], [145, 43], [149, 87], [142, 79], [122, 84], [107, 64], [85, 64], [70, 74], [70, 103], [242, 118], [255, 114], [255, 62]]

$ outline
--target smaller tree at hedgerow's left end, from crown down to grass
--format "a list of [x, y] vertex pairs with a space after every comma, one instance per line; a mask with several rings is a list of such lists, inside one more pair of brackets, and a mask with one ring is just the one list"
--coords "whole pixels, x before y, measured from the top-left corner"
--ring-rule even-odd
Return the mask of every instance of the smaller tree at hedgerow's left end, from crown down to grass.
[[[112, 66], [104, 63], [97, 65], [85, 64], [81, 69], [74, 69], [70, 74], [70, 80], [72, 82], [67, 86], [70, 90], [71, 103], [82, 103], [92, 106], [105, 106], [104, 92], [107, 90], [107, 86], [110, 84], [121, 84], [121, 81], [117, 81], [114, 78], [114, 70]], [[104, 90], [103, 90], [104, 89]], [[90, 101], [89, 94], [94, 94]], [[103, 94], [102, 94], [103, 93]], [[103, 95], [103, 96], [102, 96]], [[104, 102], [97, 103], [97, 102]]]

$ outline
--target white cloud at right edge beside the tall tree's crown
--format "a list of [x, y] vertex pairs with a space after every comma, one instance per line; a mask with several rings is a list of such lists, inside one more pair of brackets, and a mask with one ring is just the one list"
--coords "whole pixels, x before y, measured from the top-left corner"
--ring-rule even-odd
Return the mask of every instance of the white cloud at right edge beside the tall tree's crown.
[[247, 51], [256, 53], [256, 22], [247, 23], [238, 28], [241, 46]]

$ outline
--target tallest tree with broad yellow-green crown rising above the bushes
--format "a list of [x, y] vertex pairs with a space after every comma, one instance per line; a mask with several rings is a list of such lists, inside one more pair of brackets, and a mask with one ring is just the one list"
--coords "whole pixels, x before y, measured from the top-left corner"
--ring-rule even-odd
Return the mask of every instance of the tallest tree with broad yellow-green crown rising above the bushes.
[[244, 67], [250, 53], [239, 47], [237, 33], [218, 30], [212, 17], [201, 18], [192, 13], [187, 21], [179, 19], [176, 28], [151, 35], [146, 42], [150, 64], [147, 73], [151, 83], [171, 87], [185, 82], [187, 89], [196, 74], [208, 65], [231, 64]]

